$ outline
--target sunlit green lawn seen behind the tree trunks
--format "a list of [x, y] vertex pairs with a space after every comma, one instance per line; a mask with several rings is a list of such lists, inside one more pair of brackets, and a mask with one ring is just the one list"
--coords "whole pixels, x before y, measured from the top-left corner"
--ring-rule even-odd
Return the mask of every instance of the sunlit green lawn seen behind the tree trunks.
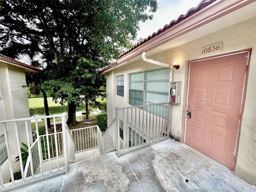
[[[99, 97], [97, 99], [97, 101], [99, 102], [106, 102], [106, 98], [103, 99], [103, 101], [101, 100], [102, 98]], [[49, 107], [54, 107], [54, 106], [61, 106], [59, 103], [55, 103], [52, 98], [47, 98], [48, 101], [48, 106]], [[43, 98], [28, 98], [28, 104], [29, 104], [29, 108], [39, 108], [39, 107], [44, 107], [44, 99]]]

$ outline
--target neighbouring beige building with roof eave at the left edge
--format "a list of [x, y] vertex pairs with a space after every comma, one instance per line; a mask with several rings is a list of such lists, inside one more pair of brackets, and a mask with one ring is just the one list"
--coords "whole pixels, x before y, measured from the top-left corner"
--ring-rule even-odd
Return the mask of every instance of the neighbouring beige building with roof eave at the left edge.
[[[28, 106], [25, 72], [38, 72], [40, 69], [26, 65], [12, 58], [0, 54], [0, 121], [6, 119], [17, 119], [30, 117]], [[13, 123], [7, 123], [8, 140], [10, 143], [13, 172], [19, 171], [18, 162], [15, 163], [15, 157], [18, 155], [17, 141]], [[30, 122], [28, 123], [31, 135]], [[25, 124], [18, 122], [18, 135], [20, 142], [26, 142]], [[4, 137], [4, 125], [0, 127], [0, 166], [4, 173], [4, 182], [10, 181], [9, 160], [7, 159], [7, 150]], [[32, 141], [32, 138], [30, 139]]]

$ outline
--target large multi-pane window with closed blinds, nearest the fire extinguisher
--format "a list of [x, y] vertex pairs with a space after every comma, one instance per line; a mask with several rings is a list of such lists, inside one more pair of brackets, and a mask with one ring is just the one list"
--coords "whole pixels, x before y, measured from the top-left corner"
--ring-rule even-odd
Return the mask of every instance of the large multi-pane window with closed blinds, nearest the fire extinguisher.
[[129, 104], [149, 105], [169, 101], [170, 69], [161, 68], [129, 75]]

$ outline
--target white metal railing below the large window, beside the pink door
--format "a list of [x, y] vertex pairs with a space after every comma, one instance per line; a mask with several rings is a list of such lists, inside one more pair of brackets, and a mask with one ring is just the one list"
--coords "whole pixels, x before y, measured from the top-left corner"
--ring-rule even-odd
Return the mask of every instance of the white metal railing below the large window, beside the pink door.
[[169, 137], [169, 107], [169, 103], [157, 103], [116, 108], [117, 156], [127, 149]]

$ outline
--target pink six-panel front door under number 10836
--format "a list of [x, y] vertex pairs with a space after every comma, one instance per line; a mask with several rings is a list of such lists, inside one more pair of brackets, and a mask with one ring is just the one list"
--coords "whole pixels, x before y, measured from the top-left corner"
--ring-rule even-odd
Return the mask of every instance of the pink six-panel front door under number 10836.
[[233, 169], [247, 52], [190, 62], [186, 143]]

